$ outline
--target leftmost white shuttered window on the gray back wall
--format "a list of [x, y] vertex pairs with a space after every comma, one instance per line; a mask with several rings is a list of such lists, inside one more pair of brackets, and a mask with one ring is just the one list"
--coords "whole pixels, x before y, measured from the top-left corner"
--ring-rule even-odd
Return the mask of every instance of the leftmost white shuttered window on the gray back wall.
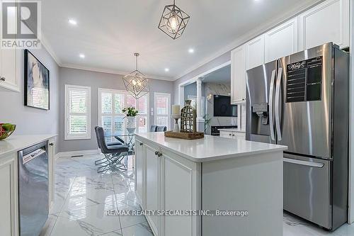
[[65, 140], [91, 139], [91, 87], [65, 85]]

